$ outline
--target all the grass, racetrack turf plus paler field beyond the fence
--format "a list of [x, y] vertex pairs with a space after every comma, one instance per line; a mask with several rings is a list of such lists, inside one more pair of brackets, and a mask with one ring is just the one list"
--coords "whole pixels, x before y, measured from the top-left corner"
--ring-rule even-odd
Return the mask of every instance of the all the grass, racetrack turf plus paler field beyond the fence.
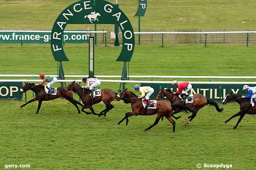
[[[109, 0], [115, 3], [115, 0]], [[76, 0], [0, 0], [0, 29], [52, 29], [57, 16]], [[137, 29], [137, 0], [121, 1], [134, 29]], [[255, 27], [253, 0], [158, 0], [148, 1], [142, 29], [198, 29]], [[89, 28], [94, 28], [89, 25]], [[67, 29], [84, 29], [69, 25]], [[113, 28], [98, 25], [98, 28]], [[130, 75], [253, 76], [255, 44], [147, 44], [135, 46]], [[116, 62], [121, 48], [95, 46], [95, 75], [121, 75]], [[65, 44], [69, 62], [65, 75], [88, 74], [88, 46]], [[49, 44], [0, 44], [0, 74], [57, 74]], [[22, 79], [1, 77], [0, 79]], [[28, 79], [28, 78], [24, 78]], [[130, 79], [150, 80], [150, 79]], [[172, 81], [173, 79], [154, 79]], [[178, 79], [208, 81], [208, 79]], [[211, 81], [255, 81], [254, 79], [211, 79]], [[55, 86], [59, 86], [58, 83]], [[126, 84], [132, 90], [134, 84]], [[101, 88], [117, 91], [118, 83], [102, 83]], [[74, 97], [78, 100], [77, 95]], [[28, 99], [32, 98], [31, 91]], [[239, 111], [237, 103], [222, 105], [222, 113], [205, 106], [184, 126], [182, 113], [176, 132], [166, 119], [151, 130], [156, 116], [131, 117], [117, 125], [130, 104], [114, 101], [107, 117], [78, 114], [66, 100], [37, 102], [20, 109], [25, 101], [0, 100], [0, 170], [5, 165], [29, 164], [24, 170], [196, 170], [196, 165], [232, 165], [231, 170], [255, 169], [255, 124], [246, 115], [236, 130], [238, 118], [223, 122]], [[80, 107], [80, 106], [79, 106]], [[81, 108], [81, 107], [80, 107]], [[94, 106], [96, 113], [104, 104]], [[15, 169], [15, 168], [8, 168]], [[216, 170], [216, 168], [200, 168]], [[221, 169], [221, 168], [219, 168]]]

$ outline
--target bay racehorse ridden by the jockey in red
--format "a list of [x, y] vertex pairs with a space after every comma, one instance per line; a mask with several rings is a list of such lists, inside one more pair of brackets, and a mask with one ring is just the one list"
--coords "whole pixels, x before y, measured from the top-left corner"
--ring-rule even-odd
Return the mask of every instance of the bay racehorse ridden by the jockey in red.
[[[162, 99], [163, 97], [167, 97], [167, 99], [172, 103], [172, 104], [182, 104], [182, 102], [180, 102], [180, 99], [178, 97], [178, 94], [173, 94], [173, 91], [171, 89], [168, 88], [162, 88], [158, 95], [156, 96], [156, 100]], [[206, 97], [204, 97], [201, 94], [194, 94], [194, 102], [193, 103], [187, 103], [186, 106], [190, 106], [193, 108], [193, 110], [195, 110], [194, 113], [192, 113], [191, 116], [186, 117], [182, 122], [185, 122], [187, 119], [191, 118], [189, 121], [187, 121], [186, 123], [184, 123], [184, 125], [189, 124], [194, 117], [197, 115], [198, 110], [200, 110], [202, 107], [204, 107], [205, 105], [210, 105], [210, 106], [215, 106], [215, 109], [218, 112], [222, 112], [223, 108], [219, 108], [219, 105], [217, 104], [217, 102], [215, 101], [211, 101], [210, 99], [207, 99]], [[179, 113], [182, 110], [180, 109], [176, 109], [173, 114]], [[163, 120], [163, 118], [162, 118]]]

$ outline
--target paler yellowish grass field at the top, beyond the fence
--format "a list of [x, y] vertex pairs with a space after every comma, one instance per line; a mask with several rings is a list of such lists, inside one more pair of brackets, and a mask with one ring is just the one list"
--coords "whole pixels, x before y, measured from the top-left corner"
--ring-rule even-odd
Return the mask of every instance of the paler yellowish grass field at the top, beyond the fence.
[[[0, 29], [52, 29], [58, 15], [77, 0], [0, 0]], [[109, 0], [115, 4], [115, 0]], [[119, 0], [122, 11], [134, 29], [138, 28], [135, 13], [137, 0]], [[254, 0], [149, 0], [141, 28], [198, 29], [198, 28], [255, 28]], [[246, 11], [246, 12], [245, 12]], [[88, 26], [94, 28], [94, 25]], [[98, 25], [98, 28], [114, 28]], [[85, 29], [70, 25], [66, 29]]]

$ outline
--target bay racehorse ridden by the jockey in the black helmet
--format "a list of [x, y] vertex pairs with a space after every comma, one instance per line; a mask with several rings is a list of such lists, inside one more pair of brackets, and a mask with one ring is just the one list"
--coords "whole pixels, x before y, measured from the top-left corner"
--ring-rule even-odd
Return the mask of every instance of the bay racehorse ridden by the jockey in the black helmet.
[[[82, 112], [86, 114], [93, 113], [94, 115], [98, 115], [99, 117], [104, 115], [106, 117], [106, 113], [113, 109], [114, 106], [110, 103], [115, 99], [115, 92], [110, 89], [102, 89], [101, 90], [101, 96], [94, 97], [93, 100], [89, 95], [91, 94], [91, 91], [89, 89], [82, 88], [78, 84], [75, 83], [75, 81], [71, 82], [67, 87], [64, 88], [64, 90], [67, 91], [74, 91], [78, 94], [78, 96], [81, 98], [84, 106], [82, 108]], [[97, 104], [99, 102], [103, 101], [106, 105], [106, 109], [102, 110], [99, 114], [95, 113], [93, 110], [92, 105]], [[84, 109], [89, 108], [91, 112], [85, 112]]]

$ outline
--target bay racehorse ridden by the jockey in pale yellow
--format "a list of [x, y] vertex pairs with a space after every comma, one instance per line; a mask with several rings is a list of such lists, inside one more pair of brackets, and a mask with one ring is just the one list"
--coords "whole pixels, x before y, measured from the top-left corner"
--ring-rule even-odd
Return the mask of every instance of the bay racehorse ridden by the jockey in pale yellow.
[[131, 103], [132, 112], [126, 112], [124, 118], [119, 121], [117, 124], [120, 124], [124, 119], [126, 119], [126, 126], [128, 125], [128, 117], [131, 116], [138, 116], [138, 115], [154, 115], [157, 114], [155, 122], [149, 126], [144, 131], [150, 130], [153, 126], [158, 124], [161, 117], [166, 117], [166, 119], [173, 124], [173, 132], [175, 132], [175, 122], [172, 119], [172, 112], [173, 110], [180, 109], [184, 111], [189, 112], [195, 112], [192, 108], [180, 105], [180, 104], [170, 104], [167, 101], [158, 101], [156, 104], [156, 109], [147, 109], [147, 112], [145, 113], [145, 108], [143, 107], [141, 99], [138, 99], [137, 95], [135, 95], [132, 91], [128, 91], [127, 89], [122, 90], [121, 93], [119, 93], [116, 97], [117, 101], [120, 101], [122, 99], [124, 103], [128, 104]]

